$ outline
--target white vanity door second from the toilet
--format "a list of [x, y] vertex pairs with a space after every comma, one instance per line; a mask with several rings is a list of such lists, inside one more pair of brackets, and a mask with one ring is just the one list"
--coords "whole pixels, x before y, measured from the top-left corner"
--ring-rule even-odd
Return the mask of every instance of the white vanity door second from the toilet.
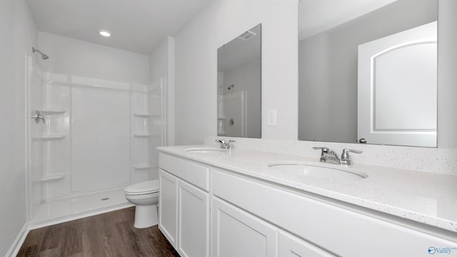
[[209, 257], [209, 193], [178, 180], [178, 252]]

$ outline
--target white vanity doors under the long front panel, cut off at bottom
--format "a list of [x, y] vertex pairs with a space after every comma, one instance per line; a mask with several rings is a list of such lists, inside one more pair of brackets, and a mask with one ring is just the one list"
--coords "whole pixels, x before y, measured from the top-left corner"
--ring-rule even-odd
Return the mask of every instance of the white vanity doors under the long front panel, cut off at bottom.
[[335, 257], [216, 196], [211, 208], [211, 256]]

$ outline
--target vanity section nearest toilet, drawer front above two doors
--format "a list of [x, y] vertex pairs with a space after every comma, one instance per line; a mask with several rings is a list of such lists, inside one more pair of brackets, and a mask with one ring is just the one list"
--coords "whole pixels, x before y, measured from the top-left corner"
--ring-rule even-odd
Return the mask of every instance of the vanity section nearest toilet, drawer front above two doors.
[[159, 229], [181, 257], [209, 257], [209, 167], [159, 155]]

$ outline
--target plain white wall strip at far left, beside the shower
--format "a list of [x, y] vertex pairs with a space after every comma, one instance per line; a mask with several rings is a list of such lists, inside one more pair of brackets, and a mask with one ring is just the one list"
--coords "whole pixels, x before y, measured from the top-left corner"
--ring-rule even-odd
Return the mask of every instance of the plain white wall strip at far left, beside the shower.
[[0, 1], [0, 256], [26, 223], [25, 54], [36, 27], [25, 0]]

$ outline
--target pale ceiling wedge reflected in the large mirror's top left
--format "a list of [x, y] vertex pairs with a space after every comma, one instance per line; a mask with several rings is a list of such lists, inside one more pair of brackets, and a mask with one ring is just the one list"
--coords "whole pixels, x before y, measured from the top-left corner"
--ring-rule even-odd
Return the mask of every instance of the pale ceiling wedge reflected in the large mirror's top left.
[[298, 40], [393, 3], [397, 0], [301, 0], [298, 4]]

